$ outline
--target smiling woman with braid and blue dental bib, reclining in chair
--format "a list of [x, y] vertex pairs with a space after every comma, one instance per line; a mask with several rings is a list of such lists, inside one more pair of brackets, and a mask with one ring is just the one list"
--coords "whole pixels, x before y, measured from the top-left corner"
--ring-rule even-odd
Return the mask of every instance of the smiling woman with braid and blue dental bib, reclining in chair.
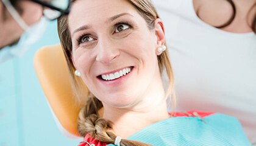
[[[151, 1], [77, 0], [69, 16], [59, 18], [58, 30], [76, 97], [85, 106], [80, 145], [249, 145], [233, 117], [168, 113], [173, 72]], [[84, 84], [91, 92], [86, 104]]]

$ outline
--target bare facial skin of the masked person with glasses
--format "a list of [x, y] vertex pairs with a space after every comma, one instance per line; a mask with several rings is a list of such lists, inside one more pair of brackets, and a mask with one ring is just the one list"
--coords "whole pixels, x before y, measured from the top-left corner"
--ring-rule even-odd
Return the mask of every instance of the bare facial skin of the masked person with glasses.
[[[25, 23], [30, 26], [36, 23], [42, 16], [42, 7], [34, 2], [20, 1], [19, 5], [23, 12], [20, 14]], [[15, 44], [24, 30], [19, 24], [12, 18], [4, 4], [0, 1], [0, 49], [5, 46]], [[33, 15], [31, 15], [33, 14]]]

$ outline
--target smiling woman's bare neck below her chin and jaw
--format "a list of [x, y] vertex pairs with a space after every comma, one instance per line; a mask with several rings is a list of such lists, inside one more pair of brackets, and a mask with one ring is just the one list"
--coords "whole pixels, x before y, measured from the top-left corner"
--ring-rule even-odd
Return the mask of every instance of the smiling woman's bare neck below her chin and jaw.
[[148, 125], [169, 117], [160, 72], [154, 77], [148, 88], [132, 98], [135, 99], [133, 102], [124, 106], [103, 103], [103, 117], [113, 122], [113, 131], [117, 136], [127, 138]]

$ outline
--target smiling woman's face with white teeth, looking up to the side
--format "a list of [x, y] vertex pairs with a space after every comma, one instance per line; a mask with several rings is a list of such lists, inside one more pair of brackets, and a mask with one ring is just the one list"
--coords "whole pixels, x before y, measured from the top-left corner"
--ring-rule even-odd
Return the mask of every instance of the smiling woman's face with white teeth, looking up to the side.
[[68, 19], [73, 63], [94, 96], [124, 107], [153, 95], [162, 83], [156, 54], [163, 44], [160, 29], [150, 30], [125, 0], [78, 0]]

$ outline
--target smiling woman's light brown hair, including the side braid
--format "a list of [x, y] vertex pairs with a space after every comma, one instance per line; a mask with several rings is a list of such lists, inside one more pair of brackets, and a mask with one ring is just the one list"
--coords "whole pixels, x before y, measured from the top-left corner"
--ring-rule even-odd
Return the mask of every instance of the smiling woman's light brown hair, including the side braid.
[[[150, 0], [127, 0], [138, 13], [145, 19], [149, 29], [155, 27], [155, 19], [159, 18], [157, 11], [152, 5]], [[73, 1], [74, 2], [74, 1]], [[88, 92], [86, 86], [80, 77], [74, 75], [74, 68], [72, 57], [72, 42], [68, 28], [68, 16], [63, 15], [58, 19], [58, 33], [60, 37], [60, 43], [62, 44], [63, 52], [68, 63], [69, 74], [71, 76], [71, 85], [73, 86], [74, 96], [77, 99], [80, 107], [78, 118], [78, 131], [81, 136], [90, 134], [91, 137], [96, 138], [98, 141], [107, 142], [113, 144], [115, 142], [116, 135], [113, 133], [113, 123], [109, 120], [99, 117], [99, 109], [103, 107], [102, 102], [98, 100], [91, 92]], [[169, 61], [168, 49], [166, 49], [161, 55], [158, 55], [158, 66], [161, 74], [165, 71], [168, 76], [168, 88], [166, 89], [166, 98], [171, 96], [172, 106], [175, 106], [176, 99], [174, 94], [174, 77], [171, 62]], [[87, 101], [85, 101], [87, 99]], [[143, 142], [130, 141], [122, 139], [123, 145], [149, 145]]]

